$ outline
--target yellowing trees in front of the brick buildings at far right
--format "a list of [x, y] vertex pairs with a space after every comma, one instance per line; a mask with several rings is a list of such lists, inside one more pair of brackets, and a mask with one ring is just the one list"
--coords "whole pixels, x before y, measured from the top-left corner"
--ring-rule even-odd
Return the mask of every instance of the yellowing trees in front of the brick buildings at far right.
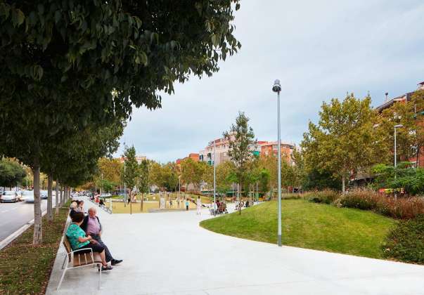
[[[304, 133], [302, 152], [295, 161], [303, 179], [341, 181], [345, 191], [349, 178], [359, 173], [372, 173], [375, 164], [392, 164], [394, 159], [394, 126], [397, 128], [397, 160], [413, 158], [418, 164], [424, 145], [424, 91], [416, 91], [411, 100], [394, 103], [382, 112], [371, 107], [371, 97], [355, 98], [349, 94], [340, 101], [333, 98], [323, 103], [319, 122], [309, 122]], [[325, 181], [324, 181], [325, 182]]]

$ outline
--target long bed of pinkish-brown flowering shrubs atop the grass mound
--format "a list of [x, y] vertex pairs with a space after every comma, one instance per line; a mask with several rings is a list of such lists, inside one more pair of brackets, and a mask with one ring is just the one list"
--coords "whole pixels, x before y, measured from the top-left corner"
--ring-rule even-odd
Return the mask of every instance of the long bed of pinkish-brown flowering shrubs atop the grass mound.
[[424, 214], [423, 197], [394, 197], [373, 190], [353, 190], [338, 200], [342, 207], [373, 210], [392, 218], [409, 219]]

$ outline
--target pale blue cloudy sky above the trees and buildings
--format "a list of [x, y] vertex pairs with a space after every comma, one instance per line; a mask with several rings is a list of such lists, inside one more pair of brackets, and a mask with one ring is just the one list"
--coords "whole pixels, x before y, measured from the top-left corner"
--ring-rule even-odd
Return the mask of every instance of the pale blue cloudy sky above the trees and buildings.
[[162, 109], [134, 109], [120, 139], [158, 162], [199, 152], [222, 136], [238, 111], [257, 140], [277, 139], [281, 80], [281, 140], [299, 144], [323, 101], [370, 93], [373, 106], [424, 81], [424, 1], [243, 0], [236, 12], [236, 55], [212, 77], [191, 78], [162, 95]]

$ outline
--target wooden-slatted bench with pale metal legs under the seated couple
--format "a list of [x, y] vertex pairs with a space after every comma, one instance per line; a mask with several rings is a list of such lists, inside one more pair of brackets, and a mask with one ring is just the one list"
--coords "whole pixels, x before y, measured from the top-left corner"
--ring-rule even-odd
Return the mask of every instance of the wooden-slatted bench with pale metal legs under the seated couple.
[[[85, 266], [95, 266], [97, 265], [98, 268], [98, 289], [100, 289], [101, 284], [101, 256], [97, 252], [93, 252], [92, 249], [77, 249], [72, 250], [70, 247], [70, 242], [68, 240], [68, 237], [66, 235], [63, 236], [63, 246], [65, 246], [66, 255], [65, 259], [63, 260], [63, 273], [62, 277], [60, 277], [60, 281], [58, 284], [58, 288], [60, 288], [60, 285], [62, 284], [63, 277], [65, 277], [65, 273], [67, 270], [75, 269], [75, 268], [83, 268]], [[81, 251], [89, 251], [87, 253], [81, 253]]]

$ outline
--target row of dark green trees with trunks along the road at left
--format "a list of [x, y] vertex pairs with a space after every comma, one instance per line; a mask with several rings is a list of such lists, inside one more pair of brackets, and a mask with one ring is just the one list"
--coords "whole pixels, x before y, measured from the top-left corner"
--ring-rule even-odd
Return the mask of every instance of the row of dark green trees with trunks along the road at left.
[[[0, 0], [0, 155], [34, 176], [34, 244], [41, 243], [40, 171], [69, 188], [116, 150], [132, 107], [208, 76], [233, 55], [238, 0], [176, 2]], [[49, 219], [51, 201], [48, 206]]]

